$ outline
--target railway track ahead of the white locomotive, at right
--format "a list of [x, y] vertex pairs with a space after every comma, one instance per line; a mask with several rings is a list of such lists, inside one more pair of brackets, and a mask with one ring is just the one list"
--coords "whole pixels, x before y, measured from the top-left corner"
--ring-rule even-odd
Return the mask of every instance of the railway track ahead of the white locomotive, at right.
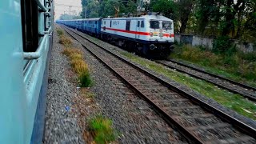
[[252, 86], [247, 86], [240, 82], [235, 82], [228, 78], [224, 78], [217, 74], [211, 74], [205, 70], [200, 70], [198, 68], [187, 66], [181, 62], [176, 62], [174, 60], [168, 61], [155, 61], [163, 66], [169, 67], [170, 69], [177, 70], [183, 74], [189, 74], [190, 76], [198, 79], [205, 80], [206, 82], [213, 83], [214, 85], [221, 87], [225, 90], [230, 90], [234, 94], [241, 94], [243, 97], [256, 102], [256, 88]]

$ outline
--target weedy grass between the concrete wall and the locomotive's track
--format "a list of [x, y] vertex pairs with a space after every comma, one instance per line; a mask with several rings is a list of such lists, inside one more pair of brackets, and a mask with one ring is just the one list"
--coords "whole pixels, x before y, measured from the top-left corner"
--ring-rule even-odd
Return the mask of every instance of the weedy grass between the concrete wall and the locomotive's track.
[[203, 67], [206, 71], [222, 75], [237, 82], [256, 86], [256, 53], [214, 54], [199, 47], [181, 45], [175, 47], [170, 58]]

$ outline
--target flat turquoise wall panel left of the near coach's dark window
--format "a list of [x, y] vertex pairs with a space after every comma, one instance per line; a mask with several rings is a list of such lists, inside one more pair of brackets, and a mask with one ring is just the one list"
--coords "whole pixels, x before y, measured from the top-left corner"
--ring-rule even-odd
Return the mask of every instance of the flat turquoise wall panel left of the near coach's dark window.
[[0, 2], [0, 33], [0, 143], [25, 143], [26, 91], [19, 0]]

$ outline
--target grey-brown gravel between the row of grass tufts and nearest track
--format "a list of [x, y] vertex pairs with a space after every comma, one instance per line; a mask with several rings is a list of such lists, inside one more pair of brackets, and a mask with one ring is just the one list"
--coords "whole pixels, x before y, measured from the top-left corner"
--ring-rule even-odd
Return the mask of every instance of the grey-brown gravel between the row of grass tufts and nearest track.
[[89, 64], [102, 114], [113, 121], [120, 143], [183, 143], [186, 142], [150, 106], [138, 98], [126, 85], [94, 58], [82, 45], [73, 41], [84, 54]]

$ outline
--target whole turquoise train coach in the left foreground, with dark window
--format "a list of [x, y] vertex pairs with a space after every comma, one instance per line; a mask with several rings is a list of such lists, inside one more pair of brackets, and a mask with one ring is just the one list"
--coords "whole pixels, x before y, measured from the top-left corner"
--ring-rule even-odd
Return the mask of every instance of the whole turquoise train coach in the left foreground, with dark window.
[[53, 0], [0, 2], [0, 143], [42, 143]]

